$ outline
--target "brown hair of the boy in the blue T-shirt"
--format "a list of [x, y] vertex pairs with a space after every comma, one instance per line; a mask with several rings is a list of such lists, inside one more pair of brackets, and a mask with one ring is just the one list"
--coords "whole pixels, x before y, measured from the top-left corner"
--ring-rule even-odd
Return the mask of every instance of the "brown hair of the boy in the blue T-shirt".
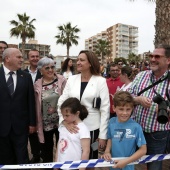
[[125, 106], [126, 104], [135, 105], [132, 95], [127, 91], [118, 91], [113, 98], [114, 106]]

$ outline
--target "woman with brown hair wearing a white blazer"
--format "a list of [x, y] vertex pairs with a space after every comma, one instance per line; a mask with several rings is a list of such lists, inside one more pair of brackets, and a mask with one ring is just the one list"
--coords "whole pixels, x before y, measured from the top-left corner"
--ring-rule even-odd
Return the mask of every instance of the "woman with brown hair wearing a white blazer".
[[[64, 123], [71, 133], [76, 133], [75, 125], [66, 125], [60, 106], [69, 97], [76, 97], [86, 106], [89, 114], [84, 123], [90, 130], [91, 143], [99, 139], [99, 147], [104, 148], [107, 139], [109, 121], [109, 92], [106, 79], [100, 76], [100, 63], [93, 52], [83, 50], [77, 59], [77, 71], [80, 74], [69, 77], [63, 94], [58, 100], [59, 122]], [[100, 109], [93, 108], [94, 98], [101, 99]], [[98, 151], [90, 152], [90, 159], [97, 159]]]

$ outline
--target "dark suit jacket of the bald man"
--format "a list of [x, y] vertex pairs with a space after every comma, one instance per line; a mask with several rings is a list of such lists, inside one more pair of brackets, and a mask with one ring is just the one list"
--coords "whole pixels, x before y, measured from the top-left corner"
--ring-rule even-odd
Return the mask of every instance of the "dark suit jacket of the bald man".
[[14, 95], [8, 91], [3, 66], [0, 68], [0, 136], [28, 133], [29, 126], [36, 125], [35, 97], [31, 75], [17, 70]]

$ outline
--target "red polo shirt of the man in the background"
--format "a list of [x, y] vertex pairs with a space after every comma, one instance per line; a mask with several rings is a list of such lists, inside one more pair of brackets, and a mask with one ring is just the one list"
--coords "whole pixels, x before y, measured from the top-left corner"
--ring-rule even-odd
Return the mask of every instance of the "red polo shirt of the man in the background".
[[109, 97], [110, 97], [110, 113], [114, 113], [113, 111], [113, 96], [116, 93], [116, 91], [119, 91], [119, 89], [122, 87], [124, 83], [120, 81], [120, 77], [116, 79], [109, 78], [106, 80], [107, 87], [109, 89]]

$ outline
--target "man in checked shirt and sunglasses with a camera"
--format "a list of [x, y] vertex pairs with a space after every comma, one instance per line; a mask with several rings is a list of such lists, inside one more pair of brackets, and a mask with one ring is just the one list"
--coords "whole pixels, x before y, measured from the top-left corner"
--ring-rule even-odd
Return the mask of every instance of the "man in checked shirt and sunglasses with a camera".
[[[129, 92], [134, 95], [136, 105], [133, 118], [143, 128], [147, 143], [147, 155], [163, 154], [168, 144], [170, 122], [159, 123], [159, 105], [153, 98], [160, 95], [161, 100], [170, 100], [168, 67], [170, 64], [170, 46], [159, 45], [149, 56], [150, 69], [140, 72], [132, 82]], [[155, 85], [155, 82], [157, 84]], [[151, 85], [151, 86], [150, 86]], [[149, 87], [150, 88], [147, 88]], [[147, 89], [146, 89], [147, 88]], [[143, 93], [140, 93], [144, 90]], [[165, 111], [166, 112], [166, 111]], [[162, 162], [154, 161], [147, 164], [148, 170], [162, 170]]]

